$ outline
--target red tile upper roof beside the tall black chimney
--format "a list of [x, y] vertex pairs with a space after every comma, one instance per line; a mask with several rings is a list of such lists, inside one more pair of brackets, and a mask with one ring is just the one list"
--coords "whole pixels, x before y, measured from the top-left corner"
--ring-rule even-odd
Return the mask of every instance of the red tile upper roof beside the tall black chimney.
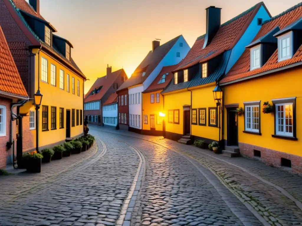
[[216, 35], [204, 49], [205, 35], [200, 36], [175, 71], [191, 67], [201, 62], [206, 62], [223, 52], [232, 49], [246, 31], [262, 5], [265, 7], [264, 3], [260, 2], [237, 17], [220, 25]]

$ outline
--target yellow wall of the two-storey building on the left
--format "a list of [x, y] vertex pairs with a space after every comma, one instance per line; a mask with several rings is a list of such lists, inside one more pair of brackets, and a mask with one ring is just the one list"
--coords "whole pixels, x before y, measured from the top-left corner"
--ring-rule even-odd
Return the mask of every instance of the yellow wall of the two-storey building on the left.
[[[83, 115], [83, 83], [84, 79], [75, 74], [68, 67], [61, 64], [47, 53], [34, 49], [35, 55], [35, 91], [38, 89], [38, 58], [40, 57], [40, 93], [43, 95], [41, 107], [39, 109], [39, 147], [58, 143], [66, 139], [66, 110], [70, 110], [70, 137], [75, 137], [83, 133], [83, 125], [81, 125], [80, 110]], [[47, 60], [47, 82], [41, 80], [41, 63], [42, 58]], [[51, 85], [51, 64], [56, 66], [56, 86]], [[60, 69], [64, 71], [64, 89], [60, 89]], [[69, 75], [69, 92], [67, 92], [67, 75]], [[74, 78], [74, 94], [72, 92], [72, 78]], [[79, 96], [77, 81], [79, 80]], [[33, 103], [33, 101], [32, 101]], [[48, 106], [48, 130], [42, 131], [42, 106]], [[51, 129], [51, 107], [56, 107], [56, 129]], [[59, 109], [64, 108], [64, 128], [59, 126]], [[27, 113], [35, 111], [34, 105], [27, 105], [20, 108], [20, 112]], [[72, 109], [75, 109], [75, 126], [72, 127]], [[79, 110], [79, 125], [77, 125], [76, 113]], [[82, 116], [83, 124], [83, 116]], [[31, 145], [25, 145], [23, 151], [34, 149], [36, 146], [36, 130], [30, 130], [29, 138]]]

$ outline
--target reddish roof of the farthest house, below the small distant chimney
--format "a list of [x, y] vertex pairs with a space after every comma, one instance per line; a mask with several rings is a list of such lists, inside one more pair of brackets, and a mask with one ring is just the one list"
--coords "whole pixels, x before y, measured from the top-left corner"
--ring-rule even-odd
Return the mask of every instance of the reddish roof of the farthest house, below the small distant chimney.
[[[117, 77], [121, 73], [125, 73], [124, 69], [114, 71], [111, 74], [108, 74], [106, 76], [100, 77], [97, 80], [95, 80], [95, 83], [93, 83], [93, 85], [89, 89], [88, 93], [86, 93], [84, 102], [86, 103], [86, 102], [90, 102], [90, 101], [101, 100], [103, 98], [104, 94], [113, 85], [114, 81], [117, 79]], [[126, 73], [125, 73], [125, 75], [126, 75]], [[89, 96], [89, 94], [92, 92], [92, 90], [98, 89], [100, 86], [103, 86], [101, 88], [100, 92]]]

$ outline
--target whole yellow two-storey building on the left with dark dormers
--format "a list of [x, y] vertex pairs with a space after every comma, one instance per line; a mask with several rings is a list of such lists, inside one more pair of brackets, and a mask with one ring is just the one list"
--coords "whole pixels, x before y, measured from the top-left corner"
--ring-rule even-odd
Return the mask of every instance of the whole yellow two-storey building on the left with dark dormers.
[[[18, 107], [17, 158], [22, 151], [62, 143], [83, 133], [85, 76], [72, 59], [72, 44], [40, 14], [39, 0], [0, 3], [0, 24], [31, 100]], [[9, 25], [9, 26], [8, 26]], [[38, 121], [34, 93], [43, 95]]]

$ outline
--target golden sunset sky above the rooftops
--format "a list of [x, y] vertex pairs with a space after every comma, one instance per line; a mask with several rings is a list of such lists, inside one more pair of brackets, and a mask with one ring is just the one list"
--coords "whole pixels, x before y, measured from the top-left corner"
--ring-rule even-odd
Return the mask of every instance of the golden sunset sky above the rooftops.
[[[28, 0], [27, 0], [28, 1]], [[205, 33], [205, 8], [222, 8], [221, 23], [246, 11], [259, 0], [40, 0], [40, 13], [74, 49], [72, 58], [90, 81], [106, 74], [107, 64], [124, 68], [128, 77], [152, 48], [182, 34], [192, 47]], [[275, 16], [298, 0], [266, 0]]]

